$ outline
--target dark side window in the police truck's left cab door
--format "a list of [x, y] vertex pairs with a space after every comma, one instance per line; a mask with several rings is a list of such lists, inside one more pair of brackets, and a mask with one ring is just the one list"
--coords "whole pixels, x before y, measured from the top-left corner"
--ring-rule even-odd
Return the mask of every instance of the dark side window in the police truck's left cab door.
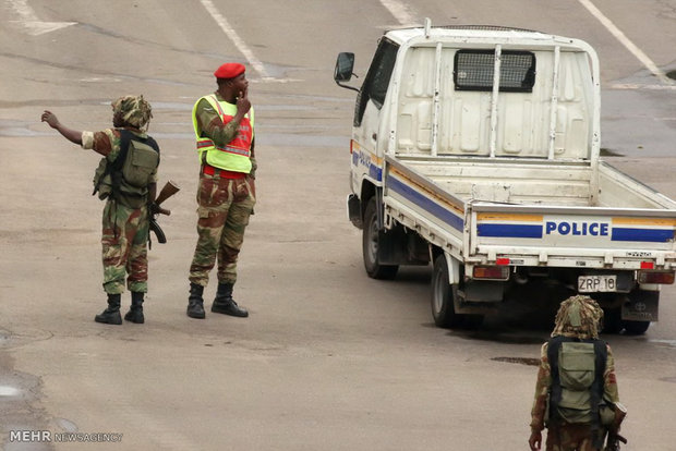
[[399, 50], [399, 46], [396, 44], [387, 39], [381, 41], [366, 74], [366, 80], [364, 80], [362, 89], [357, 96], [354, 126], [361, 125], [369, 99], [373, 100], [373, 103], [378, 109], [383, 108], [387, 87], [389, 86], [389, 78], [397, 59], [397, 50]]

